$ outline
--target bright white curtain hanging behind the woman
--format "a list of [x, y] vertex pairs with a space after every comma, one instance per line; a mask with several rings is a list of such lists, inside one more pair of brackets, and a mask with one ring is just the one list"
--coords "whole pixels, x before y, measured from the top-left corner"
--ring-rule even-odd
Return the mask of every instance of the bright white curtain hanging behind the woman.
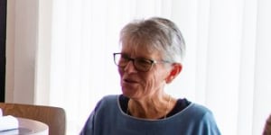
[[171, 19], [186, 40], [184, 69], [166, 91], [210, 108], [222, 134], [262, 133], [271, 112], [271, 1], [53, 0], [51, 5], [50, 57], [43, 59], [50, 68], [47, 94], [49, 104], [65, 108], [68, 134], [79, 133], [102, 96], [121, 93], [112, 56], [119, 51], [118, 32], [150, 16]]

